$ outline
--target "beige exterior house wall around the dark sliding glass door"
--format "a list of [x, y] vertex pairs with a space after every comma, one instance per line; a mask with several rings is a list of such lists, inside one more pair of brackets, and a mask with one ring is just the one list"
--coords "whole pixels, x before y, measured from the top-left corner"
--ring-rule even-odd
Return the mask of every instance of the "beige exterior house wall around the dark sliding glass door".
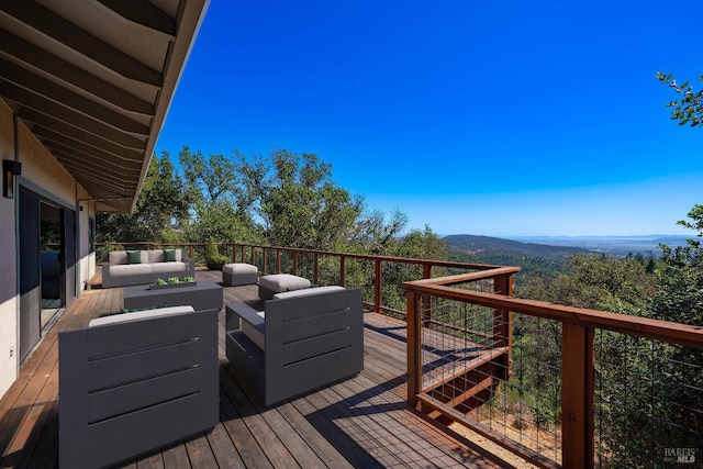
[[[16, 148], [15, 124], [16, 122]], [[89, 219], [94, 219], [94, 202], [66, 169], [46, 150], [30, 130], [13, 119], [10, 108], [0, 100], [0, 156], [22, 164], [22, 176], [15, 186], [14, 199], [0, 197], [0, 398], [16, 380], [19, 362], [20, 295], [18, 271], [18, 206], [20, 185], [43, 198], [76, 211], [77, 224], [77, 295], [80, 297], [96, 272], [94, 254], [89, 246]], [[80, 206], [82, 205], [82, 211]], [[38, 312], [37, 312], [38, 314]]]

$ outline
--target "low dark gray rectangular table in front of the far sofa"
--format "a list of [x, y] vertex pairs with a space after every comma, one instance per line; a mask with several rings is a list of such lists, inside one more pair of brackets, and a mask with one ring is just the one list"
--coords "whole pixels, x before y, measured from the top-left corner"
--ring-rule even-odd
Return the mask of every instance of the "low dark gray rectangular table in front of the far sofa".
[[222, 309], [222, 287], [212, 280], [198, 280], [194, 286], [155, 290], [150, 290], [148, 284], [125, 287], [123, 295], [126, 310], [186, 304], [190, 304], [196, 311]]

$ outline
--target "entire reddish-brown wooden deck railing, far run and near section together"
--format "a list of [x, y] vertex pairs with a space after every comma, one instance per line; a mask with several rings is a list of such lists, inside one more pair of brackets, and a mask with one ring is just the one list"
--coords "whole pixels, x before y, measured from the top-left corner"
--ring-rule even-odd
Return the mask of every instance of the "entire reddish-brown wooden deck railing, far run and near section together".
[[[154, 244], [154, 243], [121, 243], [123, 248], [141, 246], [141, 248], [181, 247], [189, 252], [190, 257], [197, 258], [197, 252], [203, 249], [204, 244]], [[221, 253], [227, 255], [232, 261], [256, 265], [261, 275], [299, 273], [303, 258], [312, 259], [310, 280], [320, 284], [321, 264], [324, 258], [336, 259], [338, 269], [337, 281], [347, 284], [348, 261], [358, 259], [373, 264], [372, 294], [367, 298], [366, 306], [369, 311], [379, 313], [402, 314], [408, 322], [408, 401], [429, 414], [442, 415], [446, 420], [460, 422], [472, 427], [478, 433], [492, 439], [496, 444], [518, 454], [521, 457], [543, 467], [556, 466], [539, 455], [523, 451], [520, 445], [513, 445], [505, 438], [495, 437], [480, 427], [472, 426], [462, 420], [450, 405], [444, 405], [432, 399], [422, 389], [423, 344], [422, 331], [432, 326], [447, 327], [433, 319], [432, 310], [435, 299], [445, 299], [462, 304], [479, 305], [493, 311], [492, 334], [483, 334], [496, 349], [507, 350], [503, 355], [506, 359], [505, 377], [510, 379], [513, 314], [525, 314], [535, 317], [557, 321], [561, 324], [561, 460], [566, 468], [592, 467], [594, 461], [594, 332], [598, 330], [614, 331], [634, 337], [646, 337], [668, 344], [687, 347], [703, 348], [703, 327], [688, 326], [665, 321], [649, 320], [623, 314], [592, 311], [569, 306], [561, 306], [545, 302], [512, 298], [512, 276], [520, 270], [517, 267], [500, 267], [455, 263], [445, 260], [399, 258], [389, 256], [373, 256], [355, 253], [336, 253], [315, 249], [301, 249], [246, 244], [220, 244]], [[286, 261], [283, 261], [286, 257]], [[420, 266], [422, 269], [417, 280], [406, 281], [406, 311], [383, 305], [383, 266], [401, 264]], [[465, 270], [465, 273], [433, 278], [433, 269], [447, 268]], [[492, 282], [492, 291], [475, 291], [458, 288], [460, 283], [478, 281]], [[457, 327], [458, 335], [477, 333], [466, 327]]]

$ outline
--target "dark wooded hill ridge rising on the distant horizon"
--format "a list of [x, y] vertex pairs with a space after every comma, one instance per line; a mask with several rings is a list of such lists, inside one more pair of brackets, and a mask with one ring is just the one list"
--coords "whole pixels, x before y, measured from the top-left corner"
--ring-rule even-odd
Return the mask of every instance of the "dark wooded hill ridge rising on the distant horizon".
[[569, 270], [569, 257], [588, 249], [521, 243], [490, 236], [450, 235], [443, 238], [451, 260], [499, 266], [517, 266], [515, 280], [528, 276], [554, 276]]

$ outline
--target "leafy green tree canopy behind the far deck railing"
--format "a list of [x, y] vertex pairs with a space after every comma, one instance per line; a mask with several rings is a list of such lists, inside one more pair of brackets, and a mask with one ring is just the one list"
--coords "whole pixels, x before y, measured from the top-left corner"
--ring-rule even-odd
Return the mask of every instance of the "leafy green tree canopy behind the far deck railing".
[[[183, 146], [179, 168], [153, 156], [136, 209], [99, 213], [98, 242], [260, 243], [382, 255], [413, 253], [419, 233], [403, 238], [408, 217], [368, 210], [338, 186], [332, 165], [312, 153], [276, 149], [267, 157], [205, 156]], [[422, 235], [434, 234], [426, 228]], [[403, 241], [405, 239], [405, 241]], [[414, 247], [413, 247], [414, 246]], [[439, 257], [442, 249], [431, 249]], [[428, 252], [425, 254], [429, 254]]]

